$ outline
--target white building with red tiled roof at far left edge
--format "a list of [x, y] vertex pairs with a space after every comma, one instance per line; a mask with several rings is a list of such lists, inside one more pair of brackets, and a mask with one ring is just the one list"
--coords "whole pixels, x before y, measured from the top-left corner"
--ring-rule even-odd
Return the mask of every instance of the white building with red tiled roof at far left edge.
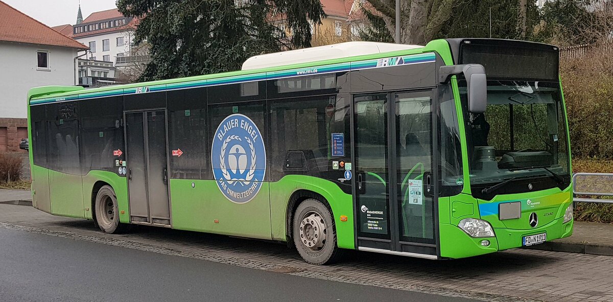
[[75, 85], [75, 57], [87, 47], [0, 1], [0, 152], [27, 135], [32, 87]]

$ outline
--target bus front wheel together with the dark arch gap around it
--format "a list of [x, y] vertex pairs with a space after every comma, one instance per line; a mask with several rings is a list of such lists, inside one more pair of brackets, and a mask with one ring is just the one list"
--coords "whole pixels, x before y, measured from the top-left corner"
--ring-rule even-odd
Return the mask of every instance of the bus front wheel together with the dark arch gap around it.
[[336, 225], [326, 198], [307, 190], [295, 192], [287, 213], [288, 242], [305, 261], [324, 265], [338, 258]]

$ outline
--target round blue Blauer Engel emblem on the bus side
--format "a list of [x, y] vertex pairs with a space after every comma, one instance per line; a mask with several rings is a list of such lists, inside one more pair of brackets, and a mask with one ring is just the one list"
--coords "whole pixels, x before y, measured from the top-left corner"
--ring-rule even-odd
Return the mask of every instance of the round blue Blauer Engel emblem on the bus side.
[[219, 190], [233, 203], [248, 203], [257, 195], [266, 172], [266, 149], [251, 118], [232, 114], [219, 123], [211, 166]]

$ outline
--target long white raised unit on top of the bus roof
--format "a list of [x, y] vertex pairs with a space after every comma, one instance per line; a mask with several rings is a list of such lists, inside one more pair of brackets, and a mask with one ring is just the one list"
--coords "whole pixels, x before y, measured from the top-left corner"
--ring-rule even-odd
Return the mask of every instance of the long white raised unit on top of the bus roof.
[[381, 42], [345, 42], [252, 56], [243, 63], [242, 70], [332, 60], [347, 58], [349, 56], [372, 55], [375, 53], [393, 52], [395, 50], [407, 50], [419, 47], [423, 46]]

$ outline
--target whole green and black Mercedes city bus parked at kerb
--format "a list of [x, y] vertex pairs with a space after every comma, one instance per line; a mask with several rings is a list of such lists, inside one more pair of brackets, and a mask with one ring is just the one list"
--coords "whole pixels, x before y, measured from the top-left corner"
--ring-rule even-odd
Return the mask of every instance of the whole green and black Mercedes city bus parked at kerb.
[[28, 94], [32, 203], [93, 220], [471, 257], [573, 232], [557, 47], [347, 42], [241, 71]]

